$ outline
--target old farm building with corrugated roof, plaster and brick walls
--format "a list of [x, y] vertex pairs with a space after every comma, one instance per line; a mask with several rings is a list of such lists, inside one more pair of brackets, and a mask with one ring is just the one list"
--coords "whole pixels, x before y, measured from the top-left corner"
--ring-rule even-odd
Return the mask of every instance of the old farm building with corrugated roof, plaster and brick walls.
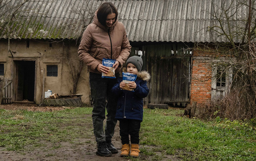
[[[77, 49], [94, 12], [105, 1], [17, 2], [21, 1], [12, 0], [9, 7], [1, 8], [0, 15], [3, 102], [40, 104], [44, 92], [51, 90], [82, 94], [82, 102], [90, 104], [89, 74]], [[203, 104], [225, 95], [232, 74], [220, 82], [214, 80], [212, 64], [218, 53], [194, 48], [197, 43], [227, 41], [207, 30], [216, 23], [213, 0], [111, 2], [118, 9], [118, 21], [126, 27], [131, 56], [141, 56], [142, 70], [152, 76], [145, 104]], [[245, 16], [248, 9], [237, 8], [236, 14]]]

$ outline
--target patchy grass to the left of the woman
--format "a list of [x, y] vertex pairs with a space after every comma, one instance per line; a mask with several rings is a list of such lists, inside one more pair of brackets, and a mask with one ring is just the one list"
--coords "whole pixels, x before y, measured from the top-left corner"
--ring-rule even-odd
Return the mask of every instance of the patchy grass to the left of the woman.
[[[43, 146], [40, 143], [42, 140], [57, 143], [73, 141], [84, 137], [86, 133], [93, 135], [92, 128], [79, 125], [91, 122], [91, 118], [85, 118], [85, 114], [91, 114], [91, 109], [76, 108], [54, 112], [0, 109], [0, 147], [5, 147], [5, 150], [24, 151], [28, 145], [33, 145], [30, 147], [32, 149]], [[17, 115], [22, 116], [22, 119], [16, 119]], [[59, 145], [53, 148], [59, 148]]]

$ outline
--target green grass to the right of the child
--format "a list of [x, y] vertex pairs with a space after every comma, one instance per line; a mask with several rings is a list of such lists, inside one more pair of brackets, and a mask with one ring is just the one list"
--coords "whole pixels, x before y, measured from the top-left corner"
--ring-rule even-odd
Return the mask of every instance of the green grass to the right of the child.
[[145, 111], [142, 145], [159, 147], [157, 151], [183, 160], [256, 160], [256, 131], [248, 123], [219, 118], [204, 122], [177, 116], [177, 110]]

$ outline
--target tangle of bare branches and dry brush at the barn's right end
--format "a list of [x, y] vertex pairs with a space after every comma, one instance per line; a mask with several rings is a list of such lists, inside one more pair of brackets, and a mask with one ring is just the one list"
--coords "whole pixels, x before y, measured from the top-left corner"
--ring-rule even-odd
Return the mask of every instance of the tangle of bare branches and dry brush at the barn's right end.
[[[229, 94], [212, 103], [208, 108], [211, 112], [204, 112], [213, 115], [217, 111], [219, 116], [230, 119], [256, 117], [255, 0], [214, 0], [212, 6], [214, 20], [207, 31], [215, 38], [211, 50], [219, 53], [213, 68], [222, 67], [222, 74], [232, 71], [233, 80]], [[225, 43], [219, 41], [223, 39]], [[197, 47], [202, 49], [201, 46], [207, 48], [205, 44]]]

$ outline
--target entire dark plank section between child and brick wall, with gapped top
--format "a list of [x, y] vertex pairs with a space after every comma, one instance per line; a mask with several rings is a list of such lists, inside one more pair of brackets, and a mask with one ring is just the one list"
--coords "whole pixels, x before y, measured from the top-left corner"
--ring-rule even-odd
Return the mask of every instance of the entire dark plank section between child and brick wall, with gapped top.
[[137, 55], [137, 51], [142, 50], [142, 70], [147, 70], [151, 75], [145, 104], [173, 103], [184, 106], [189, 101], [192, 55], [189, 50], [184, 49], [191, 45], [176, 42], [132, 48], [130, 56]]

